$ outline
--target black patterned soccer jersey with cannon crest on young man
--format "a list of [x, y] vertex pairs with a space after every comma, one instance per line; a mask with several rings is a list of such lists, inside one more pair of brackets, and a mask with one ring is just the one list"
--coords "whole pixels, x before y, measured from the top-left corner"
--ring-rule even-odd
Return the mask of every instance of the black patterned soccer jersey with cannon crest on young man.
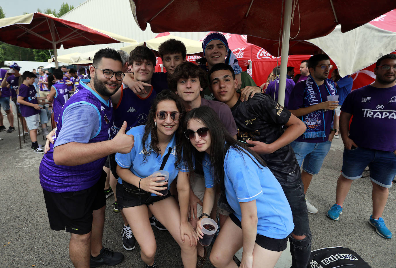
[[[291, 115], [267, 94], [255, 94], [245, 102], [238, 100], [231, 111], [238, 128], [238, 140], [264, 143], [272, 143], [283, 134], [282, 126]], [[260, 156], [282, 186], [301, 180], [300, 167], [290, 144]]]

